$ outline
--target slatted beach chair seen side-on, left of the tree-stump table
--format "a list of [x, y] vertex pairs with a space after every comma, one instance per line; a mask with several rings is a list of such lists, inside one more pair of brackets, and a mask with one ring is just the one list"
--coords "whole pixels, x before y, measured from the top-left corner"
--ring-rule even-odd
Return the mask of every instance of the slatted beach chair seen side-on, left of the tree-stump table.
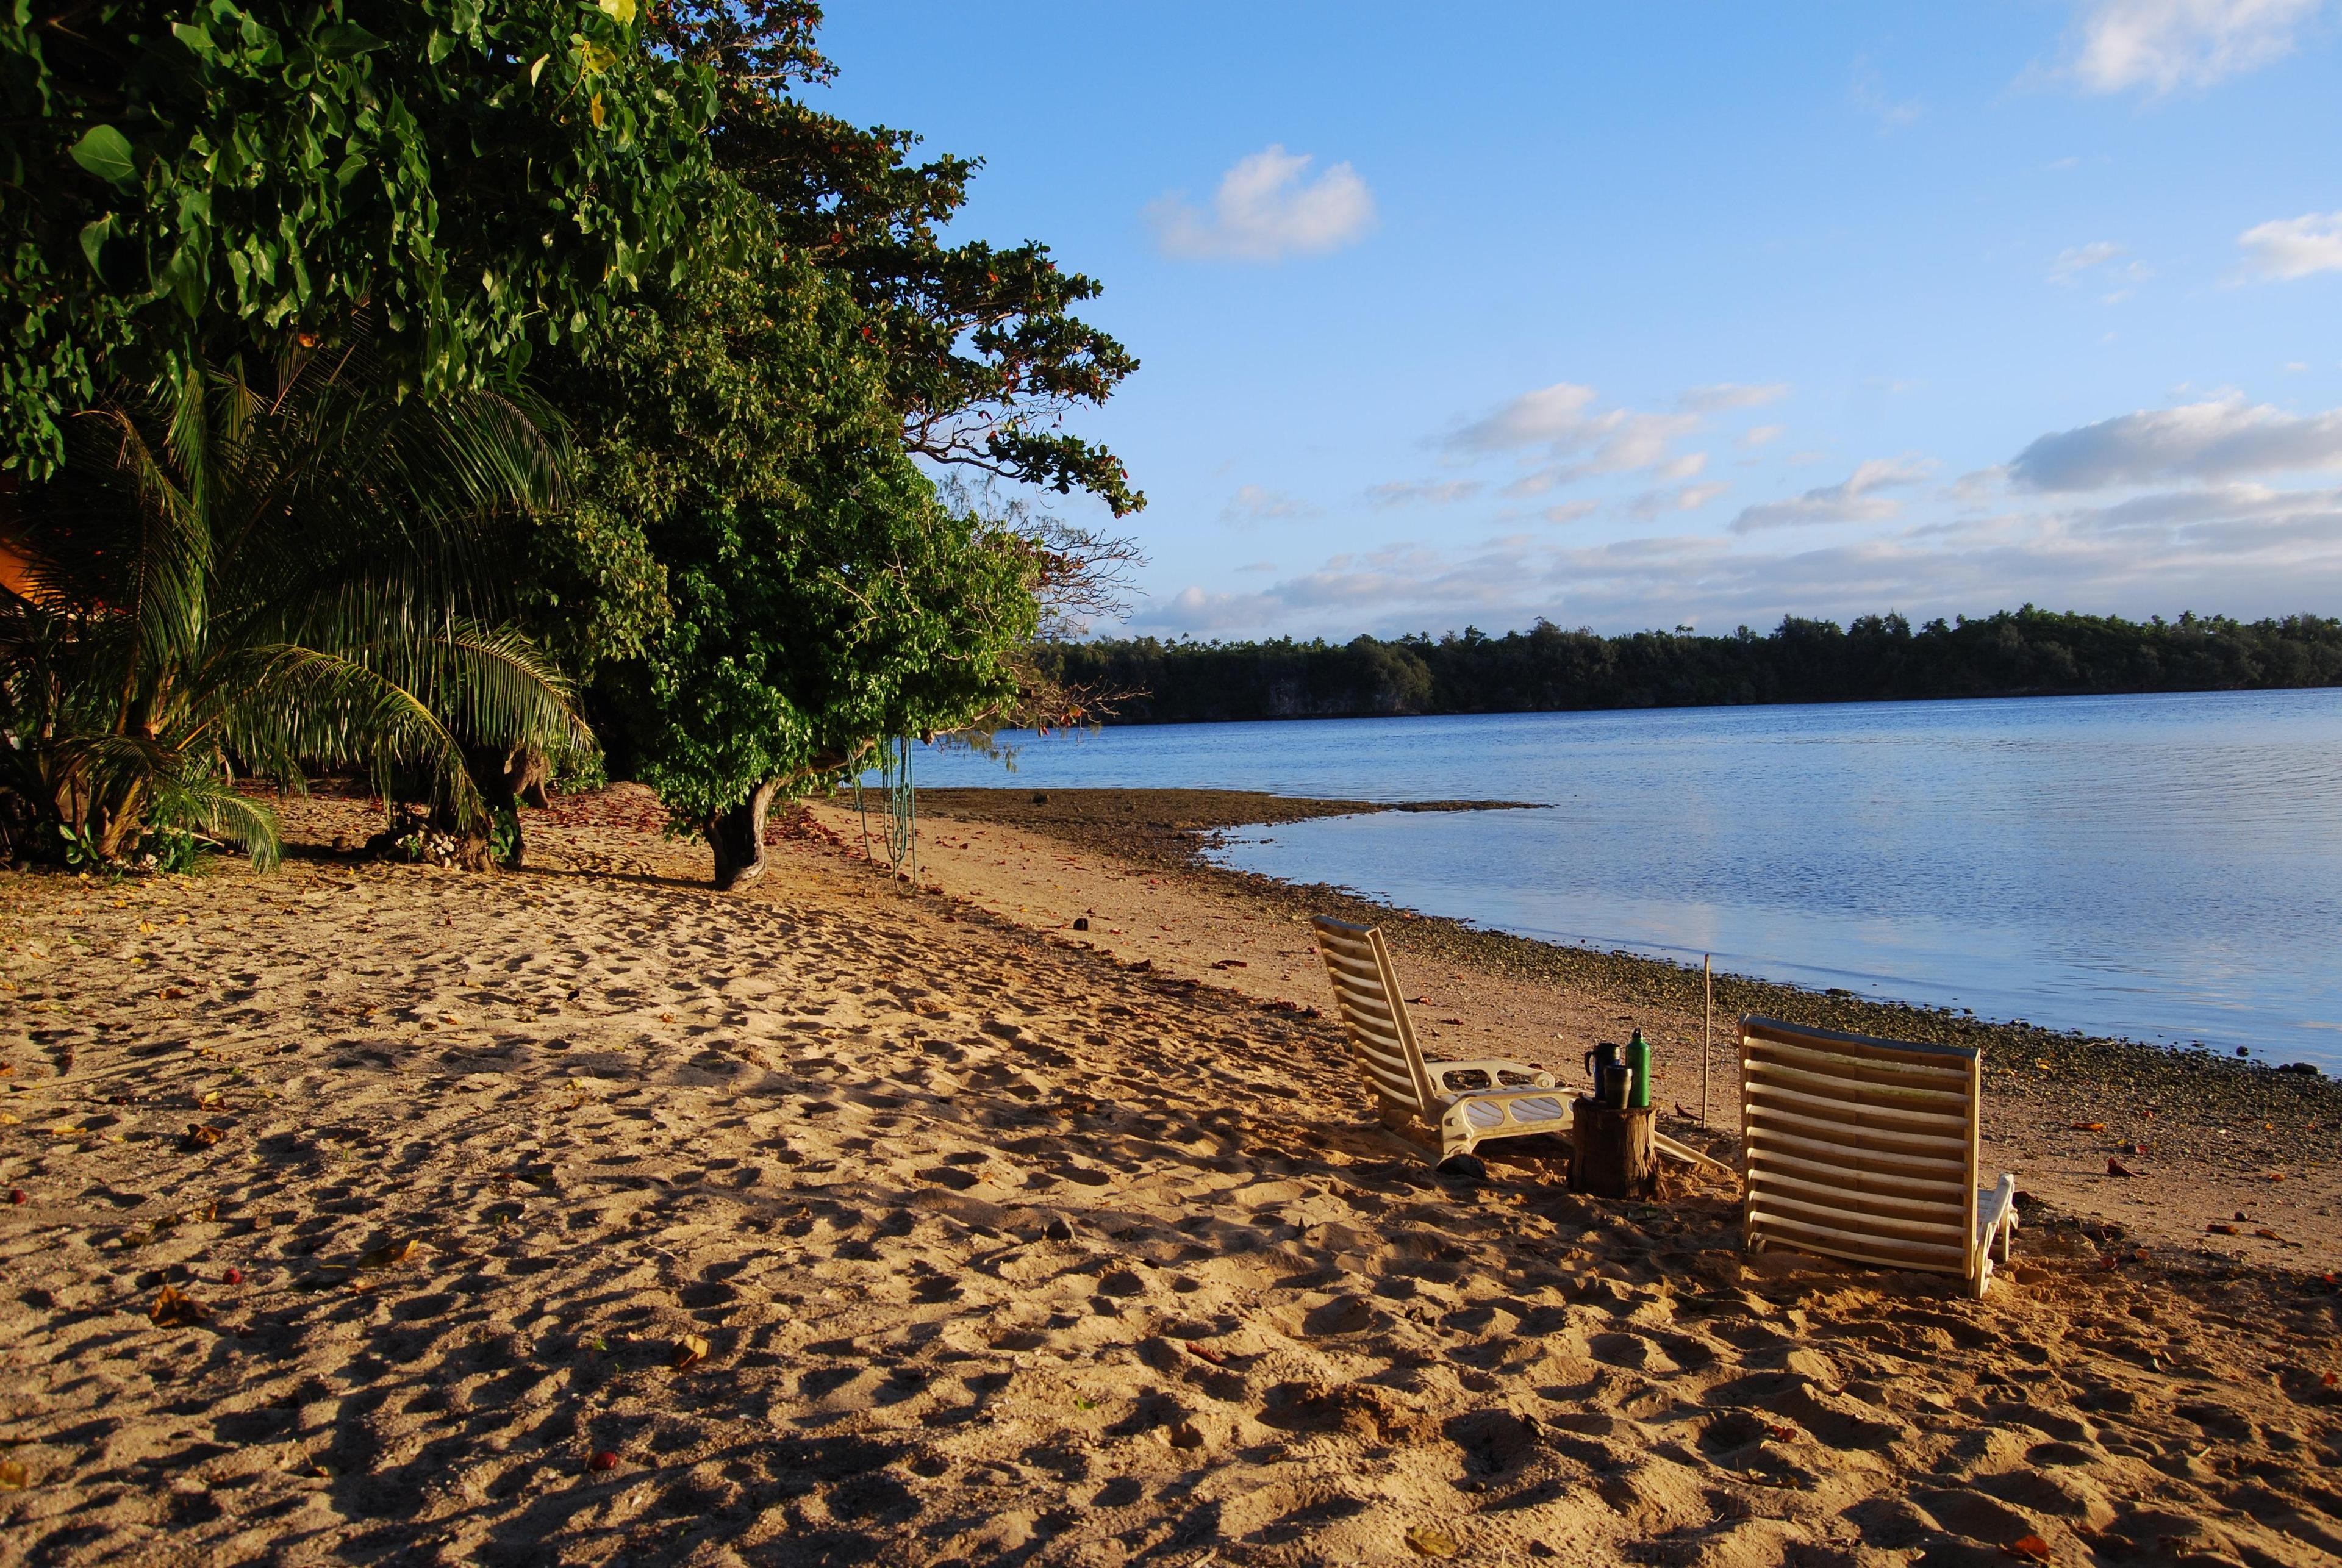
[[[1417, 1121], [1436, 1126], [1443, 1161], [1471, 1154], [1492, 1137], [1569, 1130], [1569, 1095], [1553, 1091], [1553, 1074], [1543, 1067], [1494, 1058], [1424, 1060], [1382, 931], [1323, 915], [1309, 924], [1316, 929], [1319, 957], [1333, 978], [1333, 999], [1342, 1009], [1351, 1051], [1386, 1128], [1403, 1133]], [[1454, 1079], [1466, 1074], [1485, 1077], [1487, 1086], [1457, 1086]]]

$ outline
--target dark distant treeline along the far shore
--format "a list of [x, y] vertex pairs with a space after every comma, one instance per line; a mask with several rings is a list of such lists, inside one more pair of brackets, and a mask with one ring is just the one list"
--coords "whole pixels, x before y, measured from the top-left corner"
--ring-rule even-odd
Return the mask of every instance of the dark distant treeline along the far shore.
[[1073, 688], [1127, 693], [1108, 723], [1522, 714], [1749, 702], [1883, 702], [2141, 690], [2342, 686], [2342, 620], [2288, 615], [2061, 615], [2031, 604], [1984, 620], [1785, 618], [1766, 634], [1597, 637], [1539, 620], [1490, 637], [1379, 641], [1045, 644], [1040, 669]]

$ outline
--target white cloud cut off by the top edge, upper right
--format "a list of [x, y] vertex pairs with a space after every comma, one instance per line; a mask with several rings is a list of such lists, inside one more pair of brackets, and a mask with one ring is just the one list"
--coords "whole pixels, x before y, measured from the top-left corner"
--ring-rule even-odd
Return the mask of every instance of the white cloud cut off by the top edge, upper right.
[[2096, 0], [2068, 73], [2098, 94], [2209, 87], [2293, 54], [2323, 0]]

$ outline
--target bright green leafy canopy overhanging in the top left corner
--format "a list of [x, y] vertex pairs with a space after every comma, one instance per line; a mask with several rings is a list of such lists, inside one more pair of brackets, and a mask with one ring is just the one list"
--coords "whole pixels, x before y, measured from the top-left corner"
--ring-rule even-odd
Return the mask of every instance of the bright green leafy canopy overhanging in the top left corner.
[[665, 276], [707, 70], [637, 0], [16, 0], [0, 9], [0, 468], [117, 379], [333, 344], [480, 386]]

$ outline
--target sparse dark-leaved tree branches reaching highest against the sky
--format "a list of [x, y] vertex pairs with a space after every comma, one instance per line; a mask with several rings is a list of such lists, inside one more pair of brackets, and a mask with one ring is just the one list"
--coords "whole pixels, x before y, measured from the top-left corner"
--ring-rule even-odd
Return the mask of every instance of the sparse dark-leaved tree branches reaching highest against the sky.
[[714, 77], [721, 169], [771, 211], [792, 255], [841, 276], [862, 307], [909, 449], [1136, 513], [1145, 496], [1122, 461], [1061, 428], [1138, 370], [1073, 314], [1101, 286], [1061, 271], [1042, 243], [946, 246], [981, 161], [913, 164], [918, 136], [794, 101], [792, 84], [834, 75], [815, 47], [820, 19], [810, 0], [672, 0], [651, 26]]

